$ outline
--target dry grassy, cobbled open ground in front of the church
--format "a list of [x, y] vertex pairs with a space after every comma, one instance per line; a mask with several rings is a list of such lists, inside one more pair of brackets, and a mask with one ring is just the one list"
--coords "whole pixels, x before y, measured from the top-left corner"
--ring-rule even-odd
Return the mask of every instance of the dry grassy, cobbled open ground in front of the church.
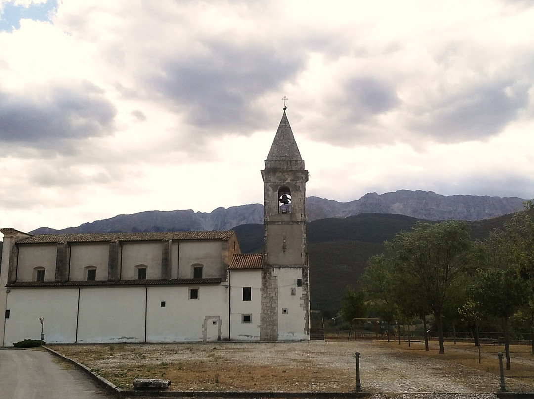
[[[163, 378], [172, 390], [251, 392], [350, 392], [360, 355], [362, 388], [367, 392], [497, 392], [497, 353], [473, 344], [446, 343], [445, 355], [422, 342], [311, 341], [294, 343], [211, 342], [205, 344], [49, 345], [85, 364], [115, 385], [131, 389], [134, 378]], [[534, 392], [530, 347], [512, 347], [506, 385]]]

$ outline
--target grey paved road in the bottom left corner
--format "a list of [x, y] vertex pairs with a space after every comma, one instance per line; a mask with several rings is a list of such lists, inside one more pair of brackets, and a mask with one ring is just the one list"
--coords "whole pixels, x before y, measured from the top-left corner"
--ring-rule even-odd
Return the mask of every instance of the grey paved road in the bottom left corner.
[[109, 399], [81, 371], [44, 350], [0, 350], [0, 398]]

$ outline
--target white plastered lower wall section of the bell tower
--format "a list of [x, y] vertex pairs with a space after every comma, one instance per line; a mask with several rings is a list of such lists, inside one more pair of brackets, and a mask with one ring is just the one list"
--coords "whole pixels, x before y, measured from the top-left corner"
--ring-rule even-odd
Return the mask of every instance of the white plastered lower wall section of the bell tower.
[[302, 300], [302, 287], [297, 286], [297, 279], [302, 278], [300, 267], [280, 267], [274, 270], [278, 281], [278, 340], [308, 340], [304, 332], [305, 312]]

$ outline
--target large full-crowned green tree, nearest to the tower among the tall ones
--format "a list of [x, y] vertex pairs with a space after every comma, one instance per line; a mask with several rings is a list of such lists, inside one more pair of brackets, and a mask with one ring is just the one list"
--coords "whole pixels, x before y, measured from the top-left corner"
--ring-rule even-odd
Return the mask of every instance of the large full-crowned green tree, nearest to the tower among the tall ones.
[[404, 290], [405, 294], [434, 314], [439, 353], [444, 353], [443, 312], [453, 283], [468, 267], [470, 246], [468, 226], [460, 221], [418, 222], [410, 232], [399, 233], [386, 243], [385, 256], [394, 265], [395, 275], [413, 287]]

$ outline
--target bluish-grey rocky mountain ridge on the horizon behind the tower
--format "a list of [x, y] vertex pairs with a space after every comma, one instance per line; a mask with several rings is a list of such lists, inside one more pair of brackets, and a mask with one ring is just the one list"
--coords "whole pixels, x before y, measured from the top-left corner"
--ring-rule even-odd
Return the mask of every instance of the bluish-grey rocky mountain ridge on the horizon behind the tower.
[[[361, 213], [402, 214], [427, 220], [490, 219], [523, 209], [526, 200], [519, 197], [476, 195], [441, 195], [433, 191], [397, 190], [390, 193], [368, 193], [351, 202], [337, 202], [320, 197], [307, 198], [307, 220], [346, 218]], [[38, 233], [154, 232], [228, 230], [244, 224], [262, 224], [263, 206], [250, 204], [217, 208], [210, 213], [192, 210], [146, 211], [120, 214], [113, 218], [84, 223], [61, 230], [40, 227]]]

